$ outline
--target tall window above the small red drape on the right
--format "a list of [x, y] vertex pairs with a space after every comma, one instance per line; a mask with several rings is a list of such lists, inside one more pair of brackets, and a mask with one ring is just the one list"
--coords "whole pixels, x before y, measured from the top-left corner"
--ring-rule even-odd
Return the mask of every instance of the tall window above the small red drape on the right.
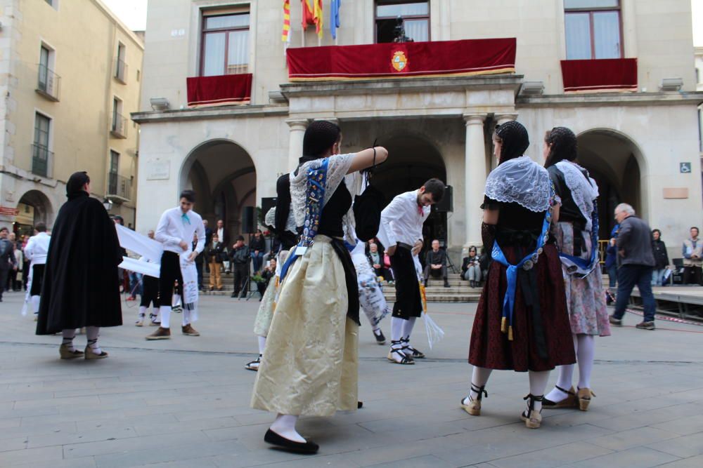
[[619, 0], [564, 0], [567, 60], [622, 58]]

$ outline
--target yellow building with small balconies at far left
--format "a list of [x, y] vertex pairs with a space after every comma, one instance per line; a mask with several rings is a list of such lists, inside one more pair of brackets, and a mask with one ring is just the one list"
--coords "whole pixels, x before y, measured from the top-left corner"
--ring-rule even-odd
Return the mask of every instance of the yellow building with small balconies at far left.
[[99, 0], [0, 0], [0, 226], [51, 226], [65, 182], [134, 225], [143, 41]]

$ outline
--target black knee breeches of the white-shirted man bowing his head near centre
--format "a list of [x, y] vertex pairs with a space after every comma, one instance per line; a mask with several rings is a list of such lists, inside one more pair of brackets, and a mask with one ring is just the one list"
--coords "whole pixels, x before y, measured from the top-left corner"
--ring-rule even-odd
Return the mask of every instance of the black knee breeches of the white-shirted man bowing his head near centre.
[[395, 253], [391, 255], [391, 268], [396, 286], [393, 316], [401, 319], [421, 316], [423, 298], [420, 297], [420, 283], [411, 250], [397, 246]]

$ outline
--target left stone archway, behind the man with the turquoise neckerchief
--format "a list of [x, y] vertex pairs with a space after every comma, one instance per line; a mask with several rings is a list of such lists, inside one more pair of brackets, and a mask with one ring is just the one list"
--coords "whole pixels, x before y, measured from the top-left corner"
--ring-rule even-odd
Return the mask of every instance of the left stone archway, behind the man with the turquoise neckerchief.
[[181, 168], [181, 189], [193, 189], [195, 210], [214, 229], [223, 220], [230, 239], [245, 234], [242, 216], [256, 206], [257, 174], [246, 150], [230, 140], [210, 140], [188, 155]]

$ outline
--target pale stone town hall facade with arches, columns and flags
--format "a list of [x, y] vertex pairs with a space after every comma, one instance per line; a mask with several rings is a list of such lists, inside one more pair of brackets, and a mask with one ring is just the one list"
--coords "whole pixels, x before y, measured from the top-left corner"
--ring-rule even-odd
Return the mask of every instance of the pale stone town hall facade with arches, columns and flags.
[[[527, 127], [527, 154], [536, 161], [548, 129], [579, 135], [579, 161], [600, 185], [602, 234], [621, 201], [668, 239], [701, 223], [703, 94], [692, 66], [690, 1], [498, 2], [505, 8], [480, 0], [344, 1], [337, 39], [328, 10], [318, 39], [314, 27], [302, 31], [300, 2], [290, 3], [289, 48], [374, 44], [389, 38], [389, 22], [401, 15], [418, 41], [515, 38], [515, 72], [290, 81], [281, 1], [150, 0], [142, 109], [132, 115], [141, 125], [138, 188], [150, 194], [138, 202], [138, 230], [152, 228], [179, 191], [193, 187], [206, 219], [243, 232], [245, 208], [275, 196], [276, 178], [295, 166], [314, 119], [340, 124], [344, 151], [374, 141], [389, 149], [374, 182], [387, 197], [431, 176], [453, 187], [453, 207], [433, 213], [426, 234], [455, 259], [480, 243], [479, 206], [495, 165], [491, 133], [510, 119]], [[223, 29], [213, 29], [218, 24]], [[228, 48], [218, 46], [224, 41]], [[626, 60], [635, 68], [627, 86], [574, 92], [564, 70], [576, 60], [586, 69], [577, 79]], [[187, 79], [230, 72], [251, 74], [247, 103], [188, 105]]]

